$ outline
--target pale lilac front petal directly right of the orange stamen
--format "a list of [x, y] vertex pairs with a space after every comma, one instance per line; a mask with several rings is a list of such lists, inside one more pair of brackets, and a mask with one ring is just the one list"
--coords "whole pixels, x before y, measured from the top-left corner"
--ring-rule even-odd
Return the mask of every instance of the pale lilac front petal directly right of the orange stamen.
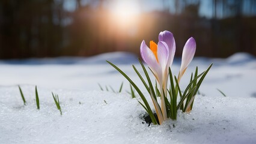
[[164, 41], [159, 41], [157, 44], [157, 58], [160, 66], [162, 67], [162, 71], [165, 71], [168, 64], [169, 59], [169, 49], [167, 44]]

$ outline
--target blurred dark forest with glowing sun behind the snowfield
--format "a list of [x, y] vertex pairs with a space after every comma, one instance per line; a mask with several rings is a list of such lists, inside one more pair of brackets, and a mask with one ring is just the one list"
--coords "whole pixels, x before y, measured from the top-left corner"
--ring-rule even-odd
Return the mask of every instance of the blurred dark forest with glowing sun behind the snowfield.
[[177, 55], [191, 36], [197, 56], [256, 55], [256, 1], [0, 1], [0, 59], [138, 54], [142, 40], [164, 30]]

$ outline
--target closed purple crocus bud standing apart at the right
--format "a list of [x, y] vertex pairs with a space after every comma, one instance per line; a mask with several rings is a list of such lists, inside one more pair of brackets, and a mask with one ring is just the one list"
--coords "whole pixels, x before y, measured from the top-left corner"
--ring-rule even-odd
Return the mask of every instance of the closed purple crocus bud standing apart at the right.
[[190, 64], [190, 62], [194, 58], [195, 49], [196, 49], [195, 39], [193, 37], [190, 37], [183, 48], [181, 67], [180, 67], [181, 73], [184, 73], [183, 71], [186, 70], [187, 66]]

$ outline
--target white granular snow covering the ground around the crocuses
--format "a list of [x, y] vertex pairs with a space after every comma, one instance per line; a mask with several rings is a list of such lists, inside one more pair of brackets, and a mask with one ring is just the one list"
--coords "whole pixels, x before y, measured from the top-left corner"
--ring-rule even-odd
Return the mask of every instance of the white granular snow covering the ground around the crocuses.
[[[236, 53], [227, 59], [195, 58], [181, 87], [195, 66], [199, 71], [211, 63], [213, 67], [192, 112], [178, 112], [177, 121], [150, 127], [142, 124], [145, 110], [139, 98], [132, 99], [125, 91], [129, 91], [129, 83], [105, 60], [117, 64], [143, 87], [131, 66], [135, 64], [141, 71], [138, 60], [130, 53], [0, 61], [0, 143], [256, 143], [254, 56]], [[177, 58], [172, 73], [177, 74], [179, 68]], [[118, 90], [122, 82], [120, 94], [100, 91], [98, 86]], [[26, 106], [17, 85], [23, 90]], [[35, 85], [40, 110], [36, 109]], [[62, 115], [51, 92], [59, 95]]]

